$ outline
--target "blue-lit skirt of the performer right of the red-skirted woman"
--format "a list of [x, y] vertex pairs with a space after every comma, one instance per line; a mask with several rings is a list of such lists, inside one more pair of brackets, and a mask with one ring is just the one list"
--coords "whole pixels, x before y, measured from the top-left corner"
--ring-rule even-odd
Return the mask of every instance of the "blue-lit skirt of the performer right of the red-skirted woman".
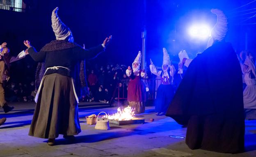
[[166, 113], [172, 98], [174, 97], [174, 88], [170, 85], [160, 84], [155, 99], [155, 112]]

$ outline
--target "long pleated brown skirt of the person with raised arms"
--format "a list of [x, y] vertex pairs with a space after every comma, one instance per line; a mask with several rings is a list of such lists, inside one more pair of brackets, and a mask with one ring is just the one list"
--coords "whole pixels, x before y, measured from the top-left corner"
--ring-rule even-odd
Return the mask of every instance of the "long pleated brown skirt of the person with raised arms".
[[53, 73], [42, 81], [29, 135], [46, 139], [78, 135], [81, 128], [72, 78]]

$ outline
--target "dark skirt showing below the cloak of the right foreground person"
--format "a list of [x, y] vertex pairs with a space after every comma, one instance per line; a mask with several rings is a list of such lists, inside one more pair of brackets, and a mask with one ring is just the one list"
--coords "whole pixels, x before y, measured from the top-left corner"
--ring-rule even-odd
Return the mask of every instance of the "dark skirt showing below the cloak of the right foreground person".
[[243, 119], [231, 115], [192, 115], [187, 125], [186, 144], [191, 149], [221, 153], [240, 153], [244, 150]]

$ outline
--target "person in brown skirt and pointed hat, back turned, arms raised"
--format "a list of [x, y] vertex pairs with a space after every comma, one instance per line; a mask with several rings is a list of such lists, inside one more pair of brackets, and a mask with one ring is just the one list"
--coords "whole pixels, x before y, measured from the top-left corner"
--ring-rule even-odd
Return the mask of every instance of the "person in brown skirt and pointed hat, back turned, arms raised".
[[112, 36], [89, 50], [73, 42], [73, 35], [57, 15], [58, 7], [52, 13], [52, 27], [56, 40], [43, 46], [37, 52], [24, 41], [28, 53], [36, 62], [45, 60], [46, 71], [35, 97], [36, 108], [31, 122], [29, 135], [48, 139], [48, 145], [55, 144], [55, 138], [62, 134], [73, 139], [81, 132], [78, 119], [78, 97], [75, 92], [75, 65], [81, 60], [90, 59], [104, 51]]

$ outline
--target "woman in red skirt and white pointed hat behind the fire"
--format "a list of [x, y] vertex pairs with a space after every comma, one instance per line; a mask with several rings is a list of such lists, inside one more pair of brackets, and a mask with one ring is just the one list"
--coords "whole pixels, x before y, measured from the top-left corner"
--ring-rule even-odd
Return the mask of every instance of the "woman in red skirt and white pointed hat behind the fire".
[[145, 102], [146, 102], [146, 87], [142, 81], [142, 77], [145, 76], [145, 72], [140, 67], [141, 52], [139, 51], [137, 57], [135, 58], [132, 69], [128, 66], [126, 70], [126, 75], [129, 77], [128, 84], [128, 95], [127, 100], [129, 105], [135, 109], [135, 113], [145, 112]]

